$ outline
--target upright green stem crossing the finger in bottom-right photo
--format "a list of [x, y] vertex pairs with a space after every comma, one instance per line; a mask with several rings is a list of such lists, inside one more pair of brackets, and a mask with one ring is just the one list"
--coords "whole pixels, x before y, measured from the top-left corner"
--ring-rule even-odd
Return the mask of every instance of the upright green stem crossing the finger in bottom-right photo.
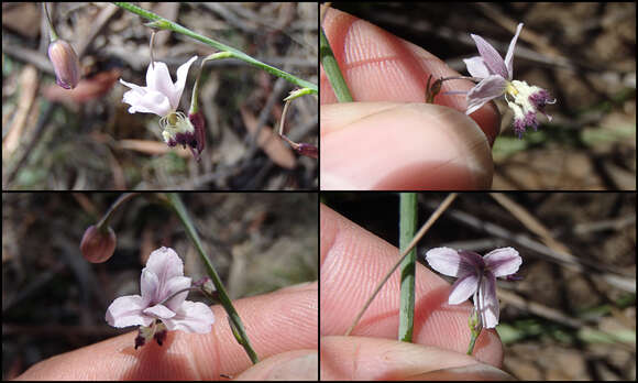
[[[405, 251], [417, 229], [417, 195], [415, 193], [400, 194], [400, 223], [399, 249]], [[416, 249], [410, 250], [400, 265], [400, 308], [398, 339], [404, 342], [413, 341], [415, 318], [415, 269], [417, 263]]]

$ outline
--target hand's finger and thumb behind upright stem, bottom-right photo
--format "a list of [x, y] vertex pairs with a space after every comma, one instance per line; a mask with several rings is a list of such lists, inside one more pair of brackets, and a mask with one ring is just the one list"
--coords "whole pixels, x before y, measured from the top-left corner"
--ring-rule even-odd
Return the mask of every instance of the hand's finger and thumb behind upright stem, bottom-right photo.
[[354, 327], [343, 337], [375, 285], [398, 254], [326, 206], [320, 208], [320, 376], [322, 380], [504, 380], [503, 346], [483, 330], [474, 354], [468, 318], [472, 306], [448, 305], [450, 284], [417, 264], [414, 343], [399, 342], [399, 277], [394, 273]]

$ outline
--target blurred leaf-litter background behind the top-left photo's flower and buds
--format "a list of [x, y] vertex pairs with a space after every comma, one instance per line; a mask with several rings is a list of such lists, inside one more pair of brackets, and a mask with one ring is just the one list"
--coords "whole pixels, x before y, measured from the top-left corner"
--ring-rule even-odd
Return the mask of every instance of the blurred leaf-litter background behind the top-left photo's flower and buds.
[[[111, 3], [47, 3], [61, 39], [80, 58], [74, 90], [55, 85], [41, 3], [2, 3], [3, 189], [316, 189], [317, 160], [299, 156], [278, 130], [283, 99], [296, 86], [238, 59], [207, 63], [200, 84], [206, 119], [201, 161], [169, 149], [160, 117], [128, 112], [120, 78], [145, 85], [147, 20]], [[317, 3], [146, 2], [144, 9], [317, 84]], [[45, 31], [45, 32], [43, 32]], [[182, 97], [188, 112], [201, 59], [215, 50], [158, 32], [154, 57], [177, 67], [194, 55]], [[286, 131], [317, 144], [316, 97], [296, 99]], [[257, 135], [258, 134], [258, 135]], [[255, 139], [257, 138], [258, 139]]]

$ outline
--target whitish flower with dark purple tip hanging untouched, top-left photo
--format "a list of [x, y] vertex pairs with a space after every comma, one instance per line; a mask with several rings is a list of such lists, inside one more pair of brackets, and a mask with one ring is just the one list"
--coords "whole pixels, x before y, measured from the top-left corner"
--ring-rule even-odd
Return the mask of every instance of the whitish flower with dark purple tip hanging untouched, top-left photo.
[[191, 149], [196, 157], [204, 150], [202, 136], [196, 127], [183, 113], [177, 111], [179, 99], [184, 92], [188, 69], [197, 56], [177, 68], [177, 81], [173, 83], [168, 67], [164, 63], [155, 62], [146, 70], [146, 86], [139, 86], [120, 79], [120, 83], [131, 88], [124, 94], [123, 101], [129, 103], [129, 113], [155, 113], [162, 119], [160, 127], [162, 136], [168, 146], [177, 144]]

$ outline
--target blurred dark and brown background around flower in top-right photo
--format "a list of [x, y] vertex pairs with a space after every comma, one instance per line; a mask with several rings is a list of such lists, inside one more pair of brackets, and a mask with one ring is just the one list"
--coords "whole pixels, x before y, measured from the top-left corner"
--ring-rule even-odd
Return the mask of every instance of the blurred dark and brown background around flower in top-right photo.
[[[468, 75], [470, 33], [505, 56], [515, 79], [548, 89], [552, 122], [518, 140], [503, 114], [494, 189], [636, 189], [636, 2], [333, 2]], [[424, 78], [424, 87], [427, 78]], [[424, 95], [425, 102], [425, 95]], [[503, 106], [505, 105], [505, 108]], [[543, 117], [539, 118], [546, 121]]]

